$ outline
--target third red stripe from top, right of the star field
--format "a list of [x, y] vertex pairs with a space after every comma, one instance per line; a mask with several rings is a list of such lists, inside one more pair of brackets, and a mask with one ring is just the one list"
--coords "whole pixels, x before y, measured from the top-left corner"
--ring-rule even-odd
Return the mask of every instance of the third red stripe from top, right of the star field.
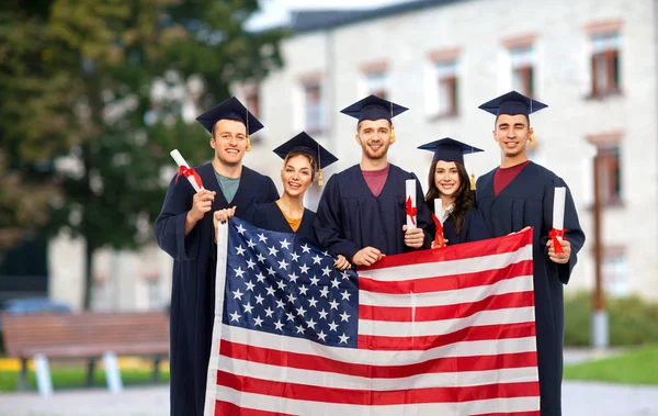
[[[530, 279], [530, 278], [529, 278]], [[359, 319], [386, 322], [427, 322], [465, 318], [483, 311], [534, 306], [532, 291], [491, 295], [478, 302], [442, 306], [359, 305]]]

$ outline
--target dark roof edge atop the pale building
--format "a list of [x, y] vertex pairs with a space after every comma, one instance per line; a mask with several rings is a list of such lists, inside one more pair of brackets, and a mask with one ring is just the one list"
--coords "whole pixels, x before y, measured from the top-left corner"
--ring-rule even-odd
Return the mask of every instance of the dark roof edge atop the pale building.
[[294, 11], [293, 33], [314, 32], [373, 19], [388, 18], [426, 8], [446, 5], [464, 0], [415, 0], [367, 10]]

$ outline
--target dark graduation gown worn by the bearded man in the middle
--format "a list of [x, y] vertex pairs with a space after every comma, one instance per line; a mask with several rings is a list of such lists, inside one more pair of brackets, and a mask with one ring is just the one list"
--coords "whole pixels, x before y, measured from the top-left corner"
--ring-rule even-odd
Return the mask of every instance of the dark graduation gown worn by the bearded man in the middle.
[[416, 175], [389, 165], [386, 183], [378, 196], [371, 192], [361, 167], [355, 165], [329, 178], [316, 213], [314, 226], [318, 241], [348, 260], [360, 249], [371, 246], [385, 255], [410, 251], [405, 246], [402, 225], [407, 223], [407, 179], [416, 180], [417, 225], [426, 235], [422, 248], [430, 248], [434, 223], [424, 203]]

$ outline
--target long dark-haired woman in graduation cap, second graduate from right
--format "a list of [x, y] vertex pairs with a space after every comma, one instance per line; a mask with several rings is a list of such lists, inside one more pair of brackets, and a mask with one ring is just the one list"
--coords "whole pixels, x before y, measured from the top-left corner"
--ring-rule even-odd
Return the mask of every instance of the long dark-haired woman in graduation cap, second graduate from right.
[[446, 243], [452, 246], [491, 238], [481, 213], [475, 207], [475, 194], [464, 166], [464, 155], [483, 150], [450, 137], [418, 148], [434, 153], [428, 173], [426, 203], [434, 212], [434, 200], [441, 199], [442, 210], [434, 215], [443, 224]]

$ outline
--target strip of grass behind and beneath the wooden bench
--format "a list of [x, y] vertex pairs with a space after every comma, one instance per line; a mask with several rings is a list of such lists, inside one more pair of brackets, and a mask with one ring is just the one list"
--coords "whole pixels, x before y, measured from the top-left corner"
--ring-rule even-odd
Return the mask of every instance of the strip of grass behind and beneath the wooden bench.
[[[122, 380], [124, 385], [150, 384], [151, 372], [145, 370], [122, 370]], [[87, 372], [82, 366], [71, 367], [50, 367], [50, 376], [53, 378], [53, 389], [80, 389], [84, 386]], [[0, 391], [15, 392], [19, 381], [18, 371], [0, 371]], [[169, 382], [169, 372], [160, 372], [160, 382]], [[27, 385], [31, 390], [36, 390], [36, 379], [34, 371], [27, 373]], [[105, 371], [97, 369], [94, 371], [93, 386], [104, 387]]]

